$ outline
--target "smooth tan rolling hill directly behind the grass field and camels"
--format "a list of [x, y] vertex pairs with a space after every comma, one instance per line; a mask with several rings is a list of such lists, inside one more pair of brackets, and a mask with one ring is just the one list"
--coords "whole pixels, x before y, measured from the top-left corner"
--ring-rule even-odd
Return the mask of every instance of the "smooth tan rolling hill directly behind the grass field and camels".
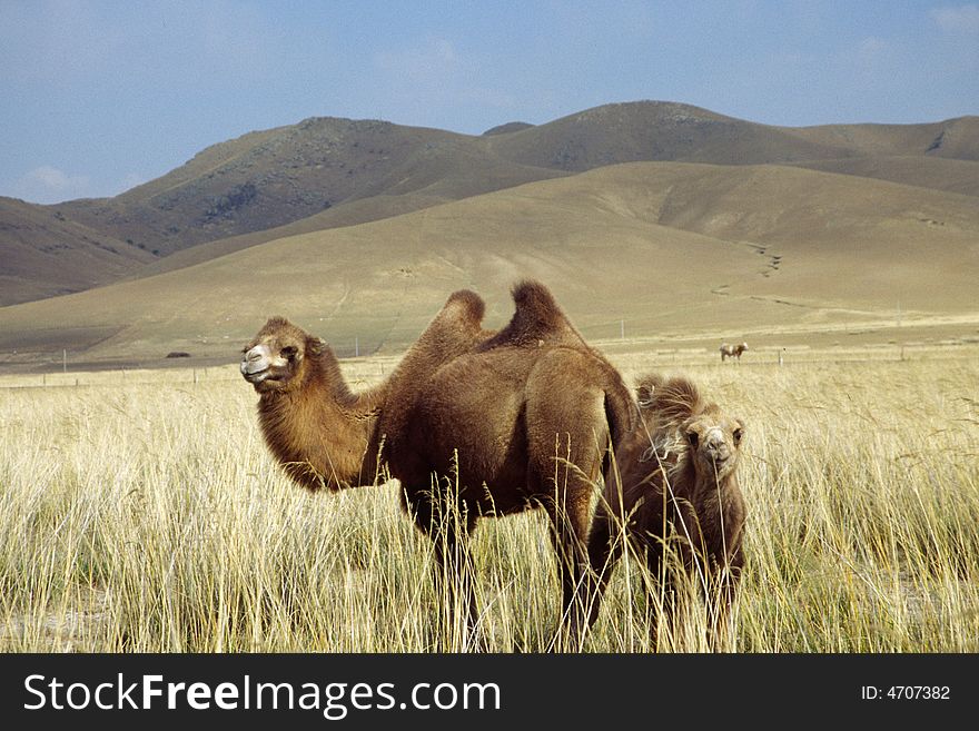
[[274, 314], [340, 355], [398, 352], [459, 287], [502, 324], [525, 276], [596, 339], [894, 337], [898, 308], [906, 333], [955, 320], [975, 334], [977, 241], [979, 206], [962, 194], [787, 166], [633, 162], [0, 308], [0, 358], [65, 348], [148, 363], [181, 349], [227, 362]]

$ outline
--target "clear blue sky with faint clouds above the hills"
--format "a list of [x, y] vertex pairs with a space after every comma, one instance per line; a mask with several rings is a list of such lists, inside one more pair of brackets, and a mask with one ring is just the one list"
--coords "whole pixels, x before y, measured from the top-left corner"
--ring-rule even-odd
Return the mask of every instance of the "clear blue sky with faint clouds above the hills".
[[307, 117], [479, 134], [613, 101], [979, 113], [979, 2], [0, 0], [0, 195], [118, 194]]

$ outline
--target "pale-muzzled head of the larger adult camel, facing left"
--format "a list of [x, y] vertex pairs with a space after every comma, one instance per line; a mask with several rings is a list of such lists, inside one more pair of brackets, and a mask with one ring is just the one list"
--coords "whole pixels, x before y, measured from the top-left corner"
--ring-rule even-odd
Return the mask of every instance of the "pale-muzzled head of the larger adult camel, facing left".
[[259, 394], [291, 391], [303, 384], [307, 359], [322, 355], [325, 346], [284, 317], [271, 317], [241, 349], [241, 375]]

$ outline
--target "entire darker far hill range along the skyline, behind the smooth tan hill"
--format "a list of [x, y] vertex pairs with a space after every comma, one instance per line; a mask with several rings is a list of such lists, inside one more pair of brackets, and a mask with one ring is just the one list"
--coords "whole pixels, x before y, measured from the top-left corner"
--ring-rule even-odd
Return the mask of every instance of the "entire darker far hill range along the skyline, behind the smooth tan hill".
[[780, 128], [643, 101], [482, 136], [313, 118], [209, 147], [116, 198], [0, 199], [0, 306], [635, 161], [804, 166], [975, 196], [979, 118]]

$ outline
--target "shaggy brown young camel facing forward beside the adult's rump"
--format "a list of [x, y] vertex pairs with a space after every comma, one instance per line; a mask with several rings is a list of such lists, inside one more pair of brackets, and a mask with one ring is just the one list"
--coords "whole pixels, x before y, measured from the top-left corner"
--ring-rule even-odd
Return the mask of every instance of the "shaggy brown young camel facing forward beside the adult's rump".
[[[624, 537], [644, 554], [654, 582], [649, 596], [668, 621], [682, 594], [678, 580], [700, 586], [711, 642], [720, 646], [744, 564], [744, 501], [736, 476], [744, 426], [705, 403], [686, 378], [646, 376], [637, 395], [642, 423], [616, 452], [619, 474], [606, 475], [589, 540], [599, 595]], [[651, 639], [656, 646], [655, 621]]]

